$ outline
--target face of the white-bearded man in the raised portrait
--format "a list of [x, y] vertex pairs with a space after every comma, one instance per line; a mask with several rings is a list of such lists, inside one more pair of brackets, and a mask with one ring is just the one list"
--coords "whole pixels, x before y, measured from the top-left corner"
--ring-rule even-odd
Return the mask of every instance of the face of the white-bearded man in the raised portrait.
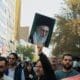
[[48, 33], [49, 33], [49, 27], [46, 26], [46, 25], [41, 25], [41, 26], [39, 26], [39, 27], [37, 28], [37, 30], [38, 30], [38, 32], [39, 32], [39, 34], [40, 34], [41, 37], [45, 37], [45, 36], [47, 36]]

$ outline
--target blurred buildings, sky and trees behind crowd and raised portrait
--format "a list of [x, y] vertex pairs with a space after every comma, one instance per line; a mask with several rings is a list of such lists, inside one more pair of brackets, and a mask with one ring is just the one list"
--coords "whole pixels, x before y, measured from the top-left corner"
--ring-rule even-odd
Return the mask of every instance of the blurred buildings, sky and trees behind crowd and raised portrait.
[[47, 56], [80, 52], [80, 0], [0, 0], [0, 55], [17, 52], [22, 59], [37, 59], [35, 45], [28, 43], [35, 13], [56, 19]]

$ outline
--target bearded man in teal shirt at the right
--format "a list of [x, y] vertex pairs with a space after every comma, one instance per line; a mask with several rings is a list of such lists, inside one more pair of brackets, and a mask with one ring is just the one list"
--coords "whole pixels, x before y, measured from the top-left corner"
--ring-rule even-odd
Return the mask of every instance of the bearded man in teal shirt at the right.
[[73, 66], [73, 57], [70, 53], [65, 52], [65, 54], [62, 57], [62, 70], [57, 70], [55, 72], [57, 80], [78, 75], [79, 72], [74, 70], [72, 66]]

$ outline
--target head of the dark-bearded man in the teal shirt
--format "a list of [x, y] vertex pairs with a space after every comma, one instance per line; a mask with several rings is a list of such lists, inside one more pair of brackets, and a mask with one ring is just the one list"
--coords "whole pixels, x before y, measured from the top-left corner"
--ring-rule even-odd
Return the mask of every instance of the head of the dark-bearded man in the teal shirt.
[[62, 57], [63, 69], [65, 69], [66, 71], [71, 70], [72, 65], [73, 65], [72, 55], [69, 53], [63, 54], [63, 57]]

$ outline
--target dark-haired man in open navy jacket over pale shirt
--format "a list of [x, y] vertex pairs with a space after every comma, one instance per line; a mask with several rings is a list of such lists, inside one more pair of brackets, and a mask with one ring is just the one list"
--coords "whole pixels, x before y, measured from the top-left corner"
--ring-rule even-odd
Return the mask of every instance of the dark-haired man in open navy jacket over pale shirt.
[[13, 80], [26, 80], [24, 74], [24, 62], [19, 61], [16, 53], [11, 53], [8, 56], [8, 69], [5, 74], [12, 77]]

